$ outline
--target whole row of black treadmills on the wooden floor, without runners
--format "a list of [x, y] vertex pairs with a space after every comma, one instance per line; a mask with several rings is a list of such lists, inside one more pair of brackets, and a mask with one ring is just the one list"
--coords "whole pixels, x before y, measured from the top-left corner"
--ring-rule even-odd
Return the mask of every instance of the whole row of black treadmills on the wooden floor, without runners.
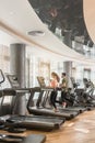
[[[52, 131], [60, 129], [67, 120], [71, 120], [78, 114], [91, 110], [93, 106], [72, 106], [63, 109], [58, 105], [58, 112], [55, 112], [49, 103], [49, 97], [52, 88], [46, 87], [43, 77], [37, 77], [41, 87], [20, 88], [15, 75], [5, 75], [11, 88], [0, 90], [0, 129], [11, 133], [23, 133], [29, 130]], [[0, 69], [0, 85], [4, 82], [5, 77]], [[19, 98], [27, 97], [27, 114], [16, 113], [19, 110]], [[9, 102], [7, 102], [7, 100]], [[27, 136], [0, 134], [0, 142], [17, 143], [44, 143], [46, 135], [31, 134]]]

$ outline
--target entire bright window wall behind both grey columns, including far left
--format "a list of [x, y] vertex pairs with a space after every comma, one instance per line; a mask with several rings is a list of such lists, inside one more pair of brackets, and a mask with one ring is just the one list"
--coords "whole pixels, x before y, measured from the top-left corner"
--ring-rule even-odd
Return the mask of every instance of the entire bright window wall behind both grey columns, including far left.
[[[49, 85], [50, 73], [56, 72], [59, 76], [63, 72], [63, 62], [48, 61], [28, 53], [26, 54], [26, 86], [38, 86], [37, 76], [43, 76]], [[0, 45], [0, 68], [3, 73], [10, 73], [10, 48]], [[87, 67], [81, 64], [72, 64], [72, 76], [81, 86], [83, 78], [91, 79], [95, 84], [95, 67]]]

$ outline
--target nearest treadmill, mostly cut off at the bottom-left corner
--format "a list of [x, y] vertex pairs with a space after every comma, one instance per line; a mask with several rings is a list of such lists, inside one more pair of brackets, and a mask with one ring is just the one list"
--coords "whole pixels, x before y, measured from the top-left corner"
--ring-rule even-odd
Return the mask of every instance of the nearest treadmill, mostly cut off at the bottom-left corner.
[[[0, 85], [4, 81], [4, 76], [2, 70], [0, 69]], [[2, 103], [3, 90], [0, 90], [0, 102]], [[1, 107], [1, 106], [0, 106]], [[8, 108], [7, 108], [8, 109]], [[1, 113], [1, 110], [0, 110]], [[0, 128], [3, 127], [0, 120]], [[2, 128], [1, 128], [2, 129]], [[44, 143], [46, 141], [46, 135], [44, 134], [31, 134], [27, 136], [17, 136], [17, 135], [9, 135], [9, 134], [0, 134], [0, 142], [2, 143]]]

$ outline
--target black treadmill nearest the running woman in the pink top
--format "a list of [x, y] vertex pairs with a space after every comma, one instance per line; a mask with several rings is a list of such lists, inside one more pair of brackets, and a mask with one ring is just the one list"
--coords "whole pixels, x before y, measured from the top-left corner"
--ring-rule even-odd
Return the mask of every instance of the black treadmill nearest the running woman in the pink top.
[[[44, 107], [40, 106], [44, 92], [46, 92], [45, 96], [48, 96], [49, 92], [51, 92], [54, 89], [50, 87], [46, 87], [44, 77], [37, 77], [37, 79], [41, 87], [39, 89], [39, 96], [38, 96], [35, 107], [32, 105], [32, 102], [34, 102], [33, 99], [34, 99], [36, 89], [35, 89], [35, 91], [33, 91], [33, 94], [31, 94], [31, 97], [29, 97], [28, 103], [27, 103], [27, 109], [28, 109], [29, 113], [34, 113], [34, 114], [38, 114], [38, 116], [60, 117], [60, 118], [66, 118], [67, 120], [72, 119], [79, 114], [79, 111], [69, 111], [68, 109], [64, 110], [62, 108], [59, 109], [59, 112], [55, 112], [51, 110], [51, 108], [48, 109], [45, 106]], [[37, 92], [38, 92], [38, 90], [37, 90]], [[46, 97], [46, 99], [47, 99], [47, 97]]]

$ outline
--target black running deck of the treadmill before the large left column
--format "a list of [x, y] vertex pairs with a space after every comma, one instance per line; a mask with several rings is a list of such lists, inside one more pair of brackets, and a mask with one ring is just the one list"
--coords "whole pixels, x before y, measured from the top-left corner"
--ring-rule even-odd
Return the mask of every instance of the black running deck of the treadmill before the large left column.
[[23, 127], [31, 129], [52, 130], [58, 129], [64, 122], [64, 119], [55, 119], [35, 116], [12, 116], [7, 119], [9, 125]]

